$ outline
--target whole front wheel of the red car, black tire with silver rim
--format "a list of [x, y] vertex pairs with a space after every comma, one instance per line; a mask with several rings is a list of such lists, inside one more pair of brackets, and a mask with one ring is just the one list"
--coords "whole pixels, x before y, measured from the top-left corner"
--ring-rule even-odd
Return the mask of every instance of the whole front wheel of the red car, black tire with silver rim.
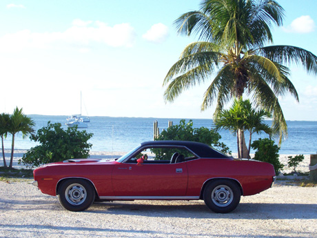
[[72, 212], [86, 210], [94, 202], [95, 192], [84, 179], [67, 179], [59, 187], [61, 206]]

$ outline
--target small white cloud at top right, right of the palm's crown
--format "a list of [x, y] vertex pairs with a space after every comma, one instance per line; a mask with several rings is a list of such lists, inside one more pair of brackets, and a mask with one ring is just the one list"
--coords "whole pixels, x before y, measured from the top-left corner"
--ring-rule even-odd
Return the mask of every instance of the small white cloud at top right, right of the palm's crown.
[[285, 32], [294, 32], [294, 33], [309, 33], [314, 32], [316, 24], [310, 16], [302, 16], [296, 18], [292, 23], [283, 28]]

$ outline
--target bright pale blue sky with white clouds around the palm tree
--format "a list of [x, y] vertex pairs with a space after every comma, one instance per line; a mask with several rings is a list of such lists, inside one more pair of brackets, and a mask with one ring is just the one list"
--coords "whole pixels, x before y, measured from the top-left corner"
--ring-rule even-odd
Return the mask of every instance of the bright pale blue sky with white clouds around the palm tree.
[[[210, 119], [201, 112], [208, 83], [163, 99], [163, 79], [195, 37], [174, 20], [198, 0], [17, 0], [0, 2], [0, 112]], [[276, 45], [317, 55], [317, 1], [279, 0], [283, 27]], [[290, 66], [300, 102], [280, 97], [287, 120], [317, 120], [317, 77]], [[81, 96], [82, 95], [82, 107]]]

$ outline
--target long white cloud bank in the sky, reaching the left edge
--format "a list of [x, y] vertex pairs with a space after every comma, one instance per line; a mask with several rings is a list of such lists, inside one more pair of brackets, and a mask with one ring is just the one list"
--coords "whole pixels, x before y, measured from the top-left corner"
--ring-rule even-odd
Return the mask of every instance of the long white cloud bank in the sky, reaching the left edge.
[[19, 51], [24, 48], [76, 47], [85, 52], [92, 43], [112, 47], [132, 47], [136, 32], [129, 23], [108, 26], [101, 21], [75, 19], [72, 26], [63, 32], [31, 32], [22, 30], [0, 38], [0, 51]]

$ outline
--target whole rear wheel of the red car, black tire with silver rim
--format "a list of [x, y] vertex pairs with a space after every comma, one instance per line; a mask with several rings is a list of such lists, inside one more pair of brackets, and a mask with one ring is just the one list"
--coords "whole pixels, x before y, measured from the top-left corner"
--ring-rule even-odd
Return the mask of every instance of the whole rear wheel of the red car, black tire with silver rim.
[[240, 198], [238, 184], [227, 179], [209, 181], [203, 192], [206, 206], [217, 213], [232, 212], [238, 206]]

